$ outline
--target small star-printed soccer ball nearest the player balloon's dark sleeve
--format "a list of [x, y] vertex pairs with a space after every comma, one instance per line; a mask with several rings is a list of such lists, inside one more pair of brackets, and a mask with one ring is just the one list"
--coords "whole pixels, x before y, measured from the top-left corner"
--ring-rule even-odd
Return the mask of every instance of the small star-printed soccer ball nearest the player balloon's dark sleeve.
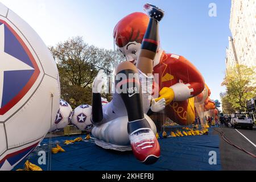
[[90, 118], [92, 117], [92, 106], [81, 105], [76, 107], [73, 111], [72, 123], [79, 130], [89, 130], [92, 128], [92, 122]]

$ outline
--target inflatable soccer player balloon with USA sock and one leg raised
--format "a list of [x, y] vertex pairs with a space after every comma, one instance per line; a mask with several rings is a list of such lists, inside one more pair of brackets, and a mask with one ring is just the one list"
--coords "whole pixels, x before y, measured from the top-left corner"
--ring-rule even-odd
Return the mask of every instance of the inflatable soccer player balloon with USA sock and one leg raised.
[[[130, 46], [137, 46], [138, 51], [141, 49], [136, 66], [125, 61], [115, 68], [115, 93], [112, 101], [103, 107], [101, 89], [104, 71], [98, 73], [93, 82], [91, 120], [94, 125], [92, 134], [97, 138], [98, 146], [121, 151], [132, 150], [140, 162], [153, 164], [160, 157], [160, 146], [155, 136], [155, 124], [147, 113], [163, 110], [166, 101], [172, 98], [151, 98], [154, 80], [152, 65], [159, 47], [158, 28], [164, 12], [150, 4], [144, 5], [144, 10], [149, 18], [144, 27], [147, 34], [138, 36], [142, 44], [129, 41], [125, 48], [120, 49], [124, 54], [124, 49]], [[126, 23], [131, 22], [132, 19]], [[136, 54], [135, 51], [133, 53]]]

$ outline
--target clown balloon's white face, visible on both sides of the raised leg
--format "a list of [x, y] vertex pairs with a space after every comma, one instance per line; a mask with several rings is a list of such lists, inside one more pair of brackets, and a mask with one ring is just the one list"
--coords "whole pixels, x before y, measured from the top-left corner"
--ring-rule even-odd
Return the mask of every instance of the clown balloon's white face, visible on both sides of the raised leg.
[[[127, 61], [130, 61], [134, 65], [137, 64], [139, 51], [141, 51], [141, 43], [137, 42], [129, 42], [123, 47], [118, 47], [119, 51], [126, 57]], [[159, 64], [160, 57], [162, 56], [163, 51], [161, 49], [158, 50], [154, 60], [154, 67]]]

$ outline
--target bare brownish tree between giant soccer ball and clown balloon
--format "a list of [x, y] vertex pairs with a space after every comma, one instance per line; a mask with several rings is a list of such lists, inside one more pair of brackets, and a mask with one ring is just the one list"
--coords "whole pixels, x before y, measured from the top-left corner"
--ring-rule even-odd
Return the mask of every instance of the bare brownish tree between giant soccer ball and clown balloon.
[[89, 46], [77, 36], [49, 47], [59, 69], [61, 98], [73, 108], [92, 104], [92, 84], [100, 69], [113, 72], [123, 55]]

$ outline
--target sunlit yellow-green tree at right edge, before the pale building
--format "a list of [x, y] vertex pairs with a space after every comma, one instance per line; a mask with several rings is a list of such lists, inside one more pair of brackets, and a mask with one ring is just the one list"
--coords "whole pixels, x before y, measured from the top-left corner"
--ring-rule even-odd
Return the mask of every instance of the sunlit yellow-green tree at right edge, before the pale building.
[[222, 82], [222, 85], [226, 86], [222, 105], [225, 103], [229, 111], [245, 111], [246, 101], [255, 96], [256, 74], [254, 70], [245, 65], [236, 65], [226, 72], [226, 77]]

